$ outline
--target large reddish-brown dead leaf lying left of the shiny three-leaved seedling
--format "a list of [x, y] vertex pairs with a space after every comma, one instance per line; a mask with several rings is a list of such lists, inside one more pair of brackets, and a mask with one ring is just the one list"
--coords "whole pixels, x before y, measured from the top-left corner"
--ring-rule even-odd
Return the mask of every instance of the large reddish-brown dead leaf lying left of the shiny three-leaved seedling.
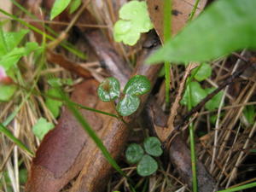
[[[97, 86], [98, 83], [93, 79], [86, 80], [84, 83], [77, 85], [72, 95], [73, 102], [78, 102], [90, 108], [114, 113], [113, 110], [111, 110], [110, 103], [101, 102], [98, 99], [96, 94]], [[81, 110], [81, 113], [97, 132], [98, 136], [102, 138], [105, 146], [112, 152], [113, 157], [118, 155], [120, 148], [122, 149], [122, 145], [119, 145], [120, 137], [125, 137], [124, 135], [119, 136], [119, 130], [117, 130], [118, 127], [116, 126], [119, 121], [107, 115], [87, 110]], [[128, 129], [126, 129], [125, 133], [127, 133], [127, 131]], [[96, 144], [84, 132], [84, 129], [73, 117], [73, 114], [65, 109], [64, 112], [61, 113], [58, 125], [55, 126], [53, 131], [49, 131], [37, 150], [26, 183], [26, 191], [60, 191], [73, 177], [78, 175], [84, 166], [86, 166], [84, 163], [101, 164], [102, 161], [105, 162], [106, 160], [96, 147]], [[105, 164], [107, 163], [105, 162]], [[91, 168], [95, 166], [88, 167]], [[109, 169], [111, 169], [110, 165], [108, 167], [101, 167], [100, 175], [107, 177]], [[96, 186], [94, 179], [96, 179], [98, 175], [95, 176], [95, 174], [93, 174], [94, 172], [89, 171], [88, 179], [92, 181], [89, 184]], [[102, 183], [101, 179], [97, 181]], [[101, 184], [101, 186], [103, 185]]]

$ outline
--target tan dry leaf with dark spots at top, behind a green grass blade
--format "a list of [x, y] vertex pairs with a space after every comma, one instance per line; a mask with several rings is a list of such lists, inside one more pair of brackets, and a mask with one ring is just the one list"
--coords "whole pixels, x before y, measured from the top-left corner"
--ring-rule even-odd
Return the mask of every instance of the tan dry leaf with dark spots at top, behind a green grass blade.
[[[206, 6], [207, 0], [201, 0], [195, 15], [199, 15]], [[154, 24], [154, 29], [158, 33], [161, 42], [163, 42], [163, 18], [164, 18], [164, 1], [147, 0], [149, 16]], [[172, 1], [172, 35], [177, 34], [189, 19], [195, 4], [195, 0], [173, 0]]]

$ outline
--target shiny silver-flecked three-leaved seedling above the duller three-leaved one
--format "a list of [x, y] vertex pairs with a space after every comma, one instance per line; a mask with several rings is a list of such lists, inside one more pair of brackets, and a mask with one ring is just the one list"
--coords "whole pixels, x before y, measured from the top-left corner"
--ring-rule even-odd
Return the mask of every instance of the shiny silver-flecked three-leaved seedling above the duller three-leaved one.
[[[116, 106], [116, 111], [121, 116], [129, 116], [136, 112], [140, 105], [139, 96], [148, 93], [150, 89], [150, 81], [145, 76], [135, 75], [125, 84], [124, 96], [120, 98]], [[105, 79], [99, 85], [97, 93], [103, 102], [114, 102], [120, 96], [118, 79], [113, 77]]]

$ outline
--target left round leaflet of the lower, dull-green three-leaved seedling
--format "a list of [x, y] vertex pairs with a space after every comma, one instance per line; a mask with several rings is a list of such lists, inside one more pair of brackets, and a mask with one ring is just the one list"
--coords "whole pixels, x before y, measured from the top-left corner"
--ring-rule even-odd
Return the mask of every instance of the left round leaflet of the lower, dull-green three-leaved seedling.
[[143, 148], [136, 143], [129, 145], [125, 151], [126, 160], [131, 164], [137, 163], [139, 160], [141, 160], [143, 158], [143, 154]]

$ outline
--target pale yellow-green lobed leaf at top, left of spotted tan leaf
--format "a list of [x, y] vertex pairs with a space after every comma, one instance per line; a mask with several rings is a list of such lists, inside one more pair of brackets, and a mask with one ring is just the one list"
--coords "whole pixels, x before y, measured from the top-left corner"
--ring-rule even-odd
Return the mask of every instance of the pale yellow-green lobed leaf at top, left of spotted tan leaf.
[[153, 28], [145, 2], [131, 1], [125, 3], [119, 10], [118, 20], [113, 26], [113, 38], [117, 42], [134, 45], [140, 38], [140, 33]]

